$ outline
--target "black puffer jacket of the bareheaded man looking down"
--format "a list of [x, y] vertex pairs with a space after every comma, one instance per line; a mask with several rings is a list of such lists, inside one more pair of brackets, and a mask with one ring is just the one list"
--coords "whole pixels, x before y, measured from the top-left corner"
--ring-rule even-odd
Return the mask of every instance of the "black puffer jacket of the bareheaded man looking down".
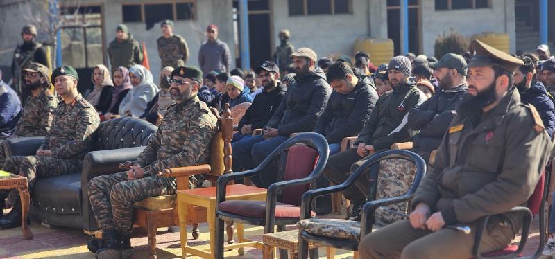
[[333, 92], [314, 132], [325, 136], [328, 143], [341, 143], [346, 136], [357, 136], [372, 113], [377, 101], [372, 79], [363, 76], [349, 94]]

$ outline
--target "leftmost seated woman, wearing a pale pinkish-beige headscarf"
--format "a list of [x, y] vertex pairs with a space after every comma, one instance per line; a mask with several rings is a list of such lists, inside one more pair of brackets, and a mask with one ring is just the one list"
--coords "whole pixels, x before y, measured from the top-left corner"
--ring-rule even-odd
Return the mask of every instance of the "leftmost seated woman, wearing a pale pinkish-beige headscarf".
[[100, 115], [103, 115], [110, 109], [112, 92], [114, 91], [112, 78], [110, 78], [110, 71], [108, 71], [108, 68], [103, 64], [98, 64], [94, 66], [91, 80], [94, 84], [94, 88], [85, 99], [94, 106]]

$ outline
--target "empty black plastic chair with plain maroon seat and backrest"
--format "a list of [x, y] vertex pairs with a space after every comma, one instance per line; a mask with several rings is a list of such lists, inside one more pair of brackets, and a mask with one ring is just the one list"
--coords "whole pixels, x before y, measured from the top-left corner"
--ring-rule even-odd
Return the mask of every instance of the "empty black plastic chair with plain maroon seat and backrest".
[[[314, 166], [314, 169], [311, 170], [310, 174], [306, 177], [281, 181], [281, 179], [284, 179], [284, 175], [281, 175], [280, 177], [278, 177], [278, 182], [268, 186], [268, 195], [266, 197], [266, 202], [258, 204], [259, 206], [264, 207], [264, 217], [245, 216], [240, 215], [239, 213], [230, 213], [229, 211], [221, 210], [221, 204], [222, 202], [225, 202], [225, 186], [230, 181], [261, 175], [262, 172], [264, 172], [264, 169], [268, 167], [268, 165], [271, 165], [271, 162], [274, 159], [280, 157], [280, 154], [286, 152], [287, 150], [289, 150], [289, 148], [294, 148], [294, 145], [305, 145], [311, 149], [316, 150], [318, 152], [316, 165]], [[325, 164], [327, 163], [329, 152], [330, 150], [328, 147], [328, 143], [321, 134], [302, 133], [298, 134], [297, 136], [293, 136], [291, 139], [288, 139], [280, 146], [278, 146], [278, 148], [273, 150], [273, 152], [271, 152], [271, 154], [269, 154], [268, 157], [266, 157], [266, 159], [264, 159], [264, 161], [262, 161], [262, 163], [260, 163], [260, 165], [253, 170], [248, 170], [245, 172], [234, 172], [233, 174], [229, 175], [222, 175], [218, 179], [216, 196], [216, 258], [223, 258], [224, 221], [264, 226], [264, 233], [273, 233], [275, 225], [278, 225], [278, 231], [284, 231], [285, 225], [296, 224], [296, 222], [298, 222], [300, 218], [299, 206], [295, 206], [291, 203], [278, 204], [278, 197], [282, 197], [282, 195], [285, 196], [285, 194], [283, 194], [284, 189], [293, 190], [291, 188], [307, 188], [307, 185], [309, 185], [308, 188], [314, 188], [314, 186], [316, 185], [316, 178], [321, 174], [322, 170], [325, 167]], [[297, 199], [300, 199], [300, 195]], [[248, 203], [249, 201], [233, 202], [239, 204], [240, 202]], [[276, 217], [276, 206], [287, 206], [289, 208], [296, 207], [296, 210], [298, 210], [297, 213], [299, 215], [297, 217]]]

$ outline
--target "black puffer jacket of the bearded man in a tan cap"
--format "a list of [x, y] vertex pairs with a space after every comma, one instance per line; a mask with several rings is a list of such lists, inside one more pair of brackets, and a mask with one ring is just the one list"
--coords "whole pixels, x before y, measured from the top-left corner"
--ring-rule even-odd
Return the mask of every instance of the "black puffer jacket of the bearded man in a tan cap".
[[320, 69], [297, 75], [266, 127], [278, 129], [281, 136], [311, 132], [322, 116], [332, 89]]

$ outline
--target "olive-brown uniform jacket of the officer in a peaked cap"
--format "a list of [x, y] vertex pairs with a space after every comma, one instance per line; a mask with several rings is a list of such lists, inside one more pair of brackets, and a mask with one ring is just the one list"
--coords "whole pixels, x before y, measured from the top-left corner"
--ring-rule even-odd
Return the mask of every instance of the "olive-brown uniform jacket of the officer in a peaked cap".
[[[533, 193], [551, 148], [536, 109], [523, 105], [512, 89], [476, 127], [468, 118], [453, 118], [412, 207], [425, 202], [432, 211], [441, 211], [449, 225], [522, 206]], [[519, 228], [515, 215], [506, 219]]]

